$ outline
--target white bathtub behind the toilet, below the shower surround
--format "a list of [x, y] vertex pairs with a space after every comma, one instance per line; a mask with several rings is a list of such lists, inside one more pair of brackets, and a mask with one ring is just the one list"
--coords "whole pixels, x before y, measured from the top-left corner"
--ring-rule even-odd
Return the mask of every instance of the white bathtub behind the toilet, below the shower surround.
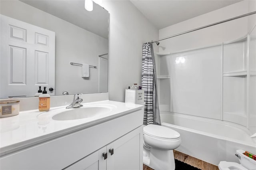
[[161, 113], [162, 126], [180, 133], [176, 150], [214, 165], [220, 161], [238, 162], [236, 150], [256, 153], [256, 140], [240, 125], [178, 113]]

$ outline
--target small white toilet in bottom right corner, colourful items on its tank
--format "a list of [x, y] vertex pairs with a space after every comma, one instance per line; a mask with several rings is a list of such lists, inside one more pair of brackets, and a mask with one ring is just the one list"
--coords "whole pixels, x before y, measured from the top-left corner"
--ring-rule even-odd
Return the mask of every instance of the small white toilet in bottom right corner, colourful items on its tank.
[[236, 150], [236, 156], [241, 164], [236, 162], [221, 161], [219, 170], [256, 170], [256, 160], [244, 155], [244, 150]]

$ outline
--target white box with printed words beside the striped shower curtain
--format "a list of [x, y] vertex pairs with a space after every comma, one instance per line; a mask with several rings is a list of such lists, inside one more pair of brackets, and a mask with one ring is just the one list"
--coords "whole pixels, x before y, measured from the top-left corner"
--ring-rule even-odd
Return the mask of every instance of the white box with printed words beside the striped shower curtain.
[[139, 104], [144, 102], [144, 90], [125, 89], [125, 103]]

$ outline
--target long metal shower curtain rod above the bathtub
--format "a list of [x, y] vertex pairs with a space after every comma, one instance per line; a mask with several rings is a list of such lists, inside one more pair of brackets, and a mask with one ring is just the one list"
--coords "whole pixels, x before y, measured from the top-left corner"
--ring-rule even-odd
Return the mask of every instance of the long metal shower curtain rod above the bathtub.
[[223, 21], [220, 21], [220, 22], [216, 22], [216, 23], [214, 23], [214, 24], [209, 24], [209, 25], [207, 25], [207, 26], [202, 26], [202, 27], [199, 27], [199, 28], [195, 28], [195, 29], [193, 29], [193, 30], [185, 31], [185, 32], [182, 32], [182, 33], [179, 33], [179, 34], [175, 34], [175, 35], [169, 36], [169, 37], [161, 38], [161, 39], [159, 39], [159, 40], [154, 40], [154, 41], [148, 42], [148, 43], [154, 43], [154, 42], [166, 40], [166, 39], [168, 39], [168, 38], [180, 36], [180, 35], [182, 35], [182, 34], [186, 34], [186, 33], [189, 33], [189, 32], [193, 32], [193, 31], [196, 31], [196, 30], [201, 30], [201, 29], [203, 29], [203, 28], [207, 28], [207, 27], [210, 27], [210, 26], [215, 26], [215, 25], [217, 25], [217, 24], [221, 24], [221, 23], [228, 22], [228, 21], [231, 21], [231, 20], [235, 20], [235, 19], [238, 19], [238, 18], [242, 18], [242, 17], [245, 17], [245, 16], [250, 16], [250, 15], [253, 15], [253, 14], [256, 14], [256, 11], [250, 12], [250, 13], [247, 13], [247, 14], [244, 14], [244, 15], [236, 16], [236, 17], [234, 17], [234, 18], [230, 18], [230, 19], [223, 20]]

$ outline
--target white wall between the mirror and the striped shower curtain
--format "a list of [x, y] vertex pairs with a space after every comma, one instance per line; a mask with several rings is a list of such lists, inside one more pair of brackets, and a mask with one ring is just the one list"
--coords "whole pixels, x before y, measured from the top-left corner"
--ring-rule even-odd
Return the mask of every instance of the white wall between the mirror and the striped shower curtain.
[[125, 88], [141, 85], [142, 45], [158, 39], [154, 27], [130, 1], [103, 1], [110, 13], [109, 99], [124, 102]]

